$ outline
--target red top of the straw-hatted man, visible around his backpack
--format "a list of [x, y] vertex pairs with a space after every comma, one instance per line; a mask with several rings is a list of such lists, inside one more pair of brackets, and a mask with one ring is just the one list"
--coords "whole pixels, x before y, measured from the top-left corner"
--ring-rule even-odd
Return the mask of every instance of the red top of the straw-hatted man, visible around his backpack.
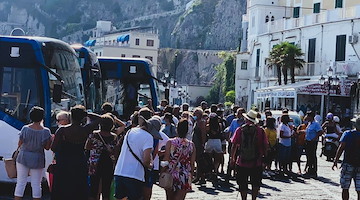
[[[262, 166], [262, 157], [265, 155], [266, 149], [267, 149], [267, 138], [265, 135], [265, 132], [262, 128], [260, 127], [256, 127], [257, 128], [257, 146], [258, 146], [258, 153], [259, 153], [259, 157], [257, 160], [255, 161], [246, 161], [246, 162], [242, 162], [240, 159], [240, 156], [237, 157], [236, 159], [236, 164], [240, 167], [259, 167]], [[241, 136], [242, 136], [242, 128], [239, 127], [238, 129], [236, 129], [234, 137], [231, 139], [231, 142], [234, 145], [239, 145], [239, 148], [241, 148]]]

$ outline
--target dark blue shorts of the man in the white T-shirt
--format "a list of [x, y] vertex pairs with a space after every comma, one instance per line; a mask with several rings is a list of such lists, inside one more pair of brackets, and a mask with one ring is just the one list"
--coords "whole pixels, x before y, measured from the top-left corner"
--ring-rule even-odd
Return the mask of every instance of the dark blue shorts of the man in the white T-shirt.
[[115, 198], [123, 199], [127, 197], [129, 200], [138, 200], [142, 198], [142, 188], [144, 182], [139, 180], [123, 177], [114, 176], [115, 180]]

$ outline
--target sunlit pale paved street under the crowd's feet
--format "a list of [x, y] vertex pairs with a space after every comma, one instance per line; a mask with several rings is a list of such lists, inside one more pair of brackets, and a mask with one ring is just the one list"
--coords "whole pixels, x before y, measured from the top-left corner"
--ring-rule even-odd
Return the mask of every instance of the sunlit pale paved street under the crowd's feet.
[[[320, 146], [319, 146], [320, 147]], [[319, 148], [318, 148], [319, 149]], [[318, 154], [319, 155], [319, 154]], [[302, 157], [305, 161], [305, 155]], [[341, 188], [339, 186], [340, 170], [332, 171], [330, 162], [326, 162], [325, 158], [318, 159], [319, 171], [318, 179], [299, 178], [280, 178], [263, 179], [263, 185], [260, 190], [259, 199], [279, 200], [279, 199], [307, 199], [307, 200], [337, 200], [341, 199]], [[304, 167], [305, 162], [302, 162]], [[339, 164], [340, 166], [340, 164]], [[293, 171], [297, 171], [294, 165]], [[222, 179], [223, 180], [223, 179]], [[5, 191], [6, 190], [6, 191]], [[0, 200], [11, 199], [12, 188], [0, 185]], [[187, 194], [186, 199], [241, 199], [237, 192], [235, 181], [230, 181], [230, 187], [219, 187], [214, 189], [212, 184], [208, 182], [206, 185], [193, 185], [193, 192]], [[29, 193], [29, 192], [27, 192]], [[1, 196], [2, 195], [2, 196]], [[350, 199], [356, 199], [354, 183], [350, 189]], [[26, 200], [31, 198], [25, 198]], [[48, 197], [44, 197], [48, 200]], [[152, 199], [165, 199], [165, 192], [162, 188], [154, 186]], [[250, 195], [248, 195], [250, 199]]]

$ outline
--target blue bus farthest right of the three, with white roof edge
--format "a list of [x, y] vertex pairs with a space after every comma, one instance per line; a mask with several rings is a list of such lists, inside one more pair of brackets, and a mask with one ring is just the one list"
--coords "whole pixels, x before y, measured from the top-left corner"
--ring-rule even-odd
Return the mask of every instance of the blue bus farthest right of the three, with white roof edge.
[[103, 79], [103, 97], [115, 105], [122, 119], [128, 119], [136, 106], [158, 105], [157, 85], [148, 59], [99, 57]]

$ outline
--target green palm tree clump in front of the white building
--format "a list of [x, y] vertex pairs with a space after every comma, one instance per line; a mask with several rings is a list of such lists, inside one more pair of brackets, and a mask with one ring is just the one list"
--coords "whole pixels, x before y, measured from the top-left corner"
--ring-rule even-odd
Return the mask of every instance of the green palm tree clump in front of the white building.
[[282, 42], [272, 48], [269, 67], [276, 66], [279, 85], [281, 85], [281, 73], [284, 76], [284, 84], [287, 84], [288, 70], [290, 70], [291, 83], [295, 83], [295, 69], [302, 68], [305, 63], [301, 58], [303, 55], [301, 48], [289, 42]]

